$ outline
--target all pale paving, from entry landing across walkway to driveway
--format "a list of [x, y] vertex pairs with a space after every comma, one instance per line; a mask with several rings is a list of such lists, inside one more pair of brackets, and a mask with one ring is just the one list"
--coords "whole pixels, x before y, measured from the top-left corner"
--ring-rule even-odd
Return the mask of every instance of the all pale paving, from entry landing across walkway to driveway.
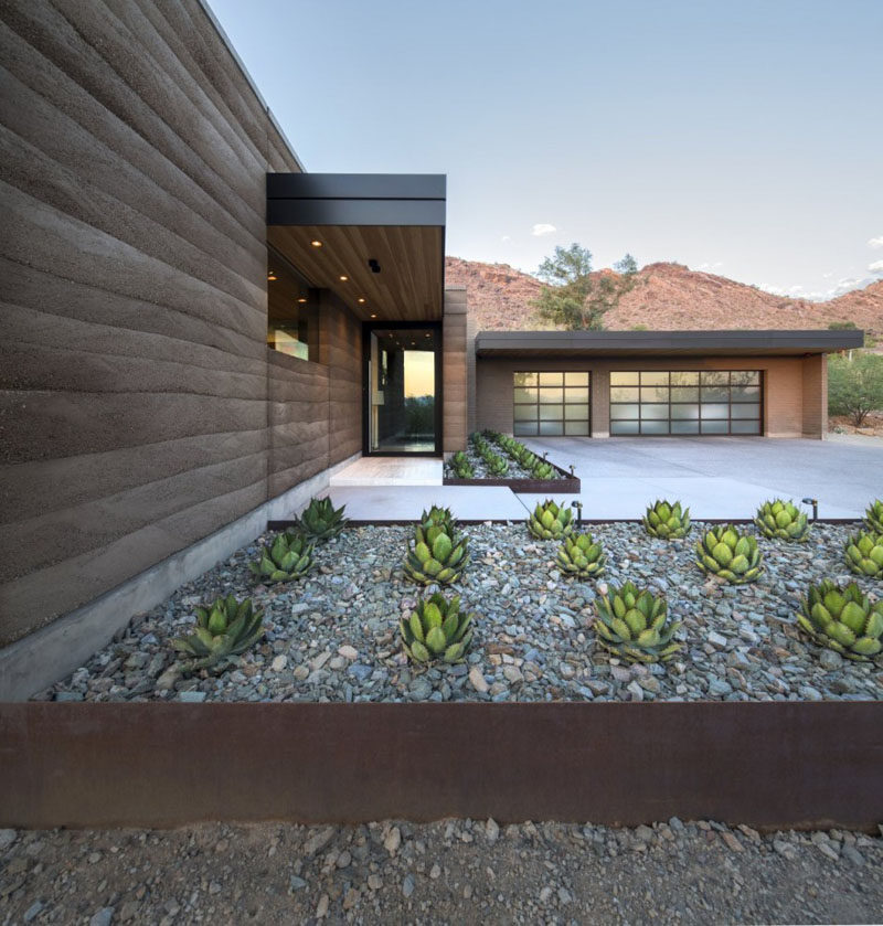
[[[748, 437], [550, 437], [525, 441], [582, 480], [586, 519], [632, 519], [656, 499], [702, 518], [744, 519], [770, 498], [819, 500], [820, 518], [860, 518], [883, 497], [883, 443]], [[369, 457], [332, 480], [328, 494], [359, 521], [409, 521], [432, 504], [462, 520], [522, 520], [546, 496], [440, 485], [440, 460]], [[809, 510], [809, 505], [807, 505]]]

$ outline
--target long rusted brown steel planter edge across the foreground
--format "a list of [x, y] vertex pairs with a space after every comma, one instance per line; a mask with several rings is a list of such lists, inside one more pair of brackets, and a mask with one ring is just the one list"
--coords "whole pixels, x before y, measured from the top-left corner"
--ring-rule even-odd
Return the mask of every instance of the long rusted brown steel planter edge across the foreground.
[[4, 704], [0, 826], [883, 820], [881, 703]]

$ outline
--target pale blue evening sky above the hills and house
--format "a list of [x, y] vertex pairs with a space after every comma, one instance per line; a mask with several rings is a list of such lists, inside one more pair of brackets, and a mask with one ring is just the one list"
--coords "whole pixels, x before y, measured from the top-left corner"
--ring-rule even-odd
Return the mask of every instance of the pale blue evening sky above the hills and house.
[[449, 255], [883, 278], [883, 0], [209, 0], [306, 170], [447, 174]]

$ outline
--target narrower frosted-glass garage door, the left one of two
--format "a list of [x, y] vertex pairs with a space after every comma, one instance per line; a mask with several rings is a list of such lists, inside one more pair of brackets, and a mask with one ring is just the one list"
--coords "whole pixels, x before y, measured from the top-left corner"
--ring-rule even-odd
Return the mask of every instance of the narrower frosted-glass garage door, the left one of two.
[[512, 400], [512, 433], [518, 437], [592, 433], [591, 377], [586, 370], [514, 373]]

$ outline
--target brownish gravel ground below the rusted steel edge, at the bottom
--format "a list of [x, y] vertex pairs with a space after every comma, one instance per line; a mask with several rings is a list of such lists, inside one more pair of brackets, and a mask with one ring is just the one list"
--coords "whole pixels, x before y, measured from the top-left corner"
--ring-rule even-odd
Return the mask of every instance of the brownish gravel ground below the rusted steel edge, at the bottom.
[[0, 830], [0, 922], [874, 923], [883, 840], [715, 821]]

